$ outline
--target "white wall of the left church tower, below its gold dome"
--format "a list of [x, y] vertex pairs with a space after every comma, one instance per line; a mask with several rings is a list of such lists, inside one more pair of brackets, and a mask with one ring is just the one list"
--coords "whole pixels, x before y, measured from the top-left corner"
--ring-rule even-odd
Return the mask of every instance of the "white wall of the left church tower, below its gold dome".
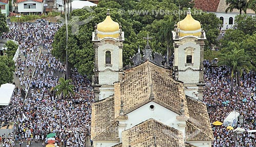
[[95, 50], [93, 86], [96, 101], [113, 95], [114, 82], [122, 79], [123, 41], [118, 38], [93, 39]]

